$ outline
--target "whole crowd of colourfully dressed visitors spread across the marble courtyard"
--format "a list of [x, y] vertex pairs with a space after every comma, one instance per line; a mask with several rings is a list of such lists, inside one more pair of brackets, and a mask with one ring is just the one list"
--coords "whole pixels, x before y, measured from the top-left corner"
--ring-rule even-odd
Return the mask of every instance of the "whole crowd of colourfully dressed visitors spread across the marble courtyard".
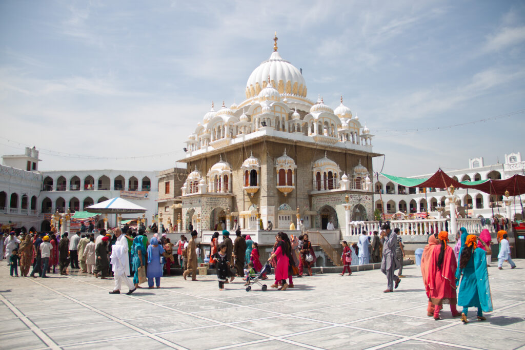
[[[123, 232], [124, 230], [124, 232]], [[385, 293], [393, 292], [401, 282], [404, 246], [398, 229], [393, 231], [388, 224], [381, 227], [381, 234], [374, 231], [372, 236], [362, 232], [359, 240], [353, 246], [342, 241], [341, 263], [343, 271], [352, 274], [352, 248], [359, 257], [359, 263], [379, 262], [381, 271], [387, 278]], [[29, 232], [16, 236], [12, 231], [5, 234], [0, 257], [8, 260], [10, 275], [18, 276], [18, 267], [22, 277], [37, 275], [47, 278], [49, 273], [68, 274], [68, 267], [79, 270], [79, 273], [91, 274], [95, 278], [114, 278], [114, 288], [111, 294], [120, 294], [122, 283], [127, 285], [127, 294], [142, 288], [140, 284], [147, 281], [148, 288], [160, 288], [161, 277], [170, 275], [171, 266], [180, 264], [183, 277], [191, 276], [197, 279], [198, 264], [201, 263], [201, 249], [196, 243], [197, 231], [190, 233], [187, 240], [181, 235], [180, 240], [173, 244], [166, 234], [159, 237], [155, 233], [151, 239], [146, 237], [144, 229], [133, 232], [127, 227], [100, 232], [78, 231], [71, 237], [68, 232], [62, 235], [55, 231], [46, 233]], [[240, 229], [235, 231], [235, 240], [229, 237], [230, 232], [222, 231], [222, 241], [219, 242], [219, 232], [214, 232], [211, 239], [209, 268], [215, 269], [219, 290], [225, 289], [225, 284], [233, 282], [236, 277], [246, 280], [249, 284], [255, 275], [261, 280], [268, 279], [266, 264], [275, 270], [275, 282], [270, 288], [285, 291], [294, 288], [293, 277], [302, 277], [304, 269], [312, 275], [312, 265], [315, 253], [308, 234], [300, 236], [278, 232], [272, 252], [261, 263], [261, 255], [257, 242], [249, 235], [241, 235]], [[498, 268], [508, 261], [511, 268], [516, 264], [510, 256], [510, 245], [507, 232], [498, 231], [497, 240], [500, 245]], [[427, 315], [439, 320], [439, 312], [443, 304], [450, 305], [453, 316], [460, 316], [468, 323], [469, 307], [477, 308], [479, 320], [485, 320], [483, 312], [492, 310], [487, 267], [491, 262], [491, 236], [484, 230], [478, 236], [469, 235], [461, 227], [457, 244], [454, 248], [448, 246], [448, 232], [441, 231], [428, 237], [421, 259], [423, 283], [428, 297]], [[395, 274], [395, 271], [398, 274]], [[132, 280], [130, 279], [132, 278]], [[457, 289], [459, 287], [459, 293]], [[456, 305], [463, 306], [459, 313]]]

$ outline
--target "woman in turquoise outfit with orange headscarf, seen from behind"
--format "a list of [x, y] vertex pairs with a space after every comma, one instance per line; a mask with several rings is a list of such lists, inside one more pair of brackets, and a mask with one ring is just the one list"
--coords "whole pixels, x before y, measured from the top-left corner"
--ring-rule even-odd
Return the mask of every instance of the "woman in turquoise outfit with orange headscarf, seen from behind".
[[461, 321], [468, 323], [469, 307], [478, 309], [477, 318], [486, 320], [483, 311], [492, 311], [492, 297], [488, 279], [485, 250], [477, 248], [478, 237], [466, 235], [465, 228], [461, 228], [461, 249], [459, 251], [459, 266], [456, 270], [456, 285], [461, 276], [458, 293], [458, 305], [463, 306]]

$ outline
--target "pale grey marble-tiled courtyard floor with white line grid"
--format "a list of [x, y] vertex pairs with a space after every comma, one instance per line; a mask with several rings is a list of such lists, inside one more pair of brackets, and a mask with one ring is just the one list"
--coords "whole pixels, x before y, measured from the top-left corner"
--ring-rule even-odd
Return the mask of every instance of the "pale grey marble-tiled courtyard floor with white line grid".
[[[515, 349], [525, 348], [525, 260], [489, 268], [495, 311], [464, 325], [426, 316], [421, 272], [394, 293], [379, 270], [319, 274], [295, 289], [246, 292], [237, 279], [162, 278], [161, 289], [110, 295], [112, 280], [78, 274], [12, 278], [0, 263], [0, 349]], [[268, 284], [271, 284], [268, 283]], [[126, 292], [127, 290], [124, 290]]]

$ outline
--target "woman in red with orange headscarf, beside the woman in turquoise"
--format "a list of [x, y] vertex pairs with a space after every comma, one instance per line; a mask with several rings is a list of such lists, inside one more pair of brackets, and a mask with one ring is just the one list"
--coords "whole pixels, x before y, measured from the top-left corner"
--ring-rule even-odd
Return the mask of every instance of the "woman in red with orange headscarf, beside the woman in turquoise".
[[452, 316], [459, 316], [456, 310], [456, 269], [454, 250], [447, 246], [448, 232], [438, 235], [439, 245], [433, 247], [428, 261], [427, 283], [425, 285], [428, 301], [434, 304], [434, 320], [439, 320], [439, 310], [443, 304], [450, 305]]

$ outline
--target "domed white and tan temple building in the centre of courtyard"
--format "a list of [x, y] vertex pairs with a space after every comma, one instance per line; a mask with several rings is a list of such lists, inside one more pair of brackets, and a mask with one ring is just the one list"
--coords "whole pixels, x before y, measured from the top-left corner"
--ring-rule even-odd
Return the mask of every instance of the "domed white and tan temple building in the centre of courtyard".
[[[185, 142], [182, 225], [253, 230], [344, 227], [373, 219], [370, 130], [349, 107], [308, 98], [301, 70], [274, 51], [251, 72], [246, 99], [204, 114]], [[348, 196], [348, 198], [347, 198]], [[346, 202], [348, 200], [348, 204]], [[227, 224], [226, 224], [227, 222]], [[226, 225], [225, 225], [226, 224]]]

